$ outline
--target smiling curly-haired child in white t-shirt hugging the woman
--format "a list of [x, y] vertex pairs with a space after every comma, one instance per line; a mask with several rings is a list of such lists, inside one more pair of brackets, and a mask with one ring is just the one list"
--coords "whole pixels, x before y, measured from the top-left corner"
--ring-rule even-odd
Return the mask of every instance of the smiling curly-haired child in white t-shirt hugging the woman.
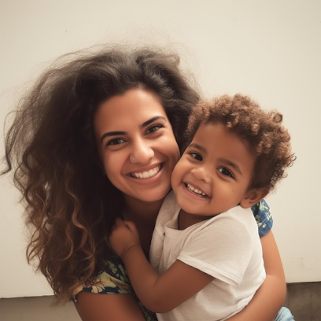
[[193, 139], [172, 174], [175, 196], [167, 196], [156, 221], [153, 268], [132, 222], [116, 220], [110, 244], [158, 320], [228, 318], [262, 284], [262, 248], [250, 207], [295, 159], [281, 123], [280, 113], [266, 113], [240, 94], [198, 104], [187, 131]]

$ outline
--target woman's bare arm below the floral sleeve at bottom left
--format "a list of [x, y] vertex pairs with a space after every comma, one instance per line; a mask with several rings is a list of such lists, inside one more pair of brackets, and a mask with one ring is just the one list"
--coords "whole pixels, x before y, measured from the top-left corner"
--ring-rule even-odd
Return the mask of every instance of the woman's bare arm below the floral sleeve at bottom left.
[[145, 317], [131, 294], [77, 294], [75, 308], [83, 321], [142, 321]]

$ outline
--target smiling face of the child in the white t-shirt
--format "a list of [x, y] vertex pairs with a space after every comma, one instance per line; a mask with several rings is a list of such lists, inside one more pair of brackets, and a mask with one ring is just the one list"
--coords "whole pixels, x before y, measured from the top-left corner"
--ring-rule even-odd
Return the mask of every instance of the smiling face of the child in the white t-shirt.
[[172, 174], [178, 205], [190, 214], [212, 216], [240, 204], [254, 164], [247, 143], [223, 124], [200, 125]]

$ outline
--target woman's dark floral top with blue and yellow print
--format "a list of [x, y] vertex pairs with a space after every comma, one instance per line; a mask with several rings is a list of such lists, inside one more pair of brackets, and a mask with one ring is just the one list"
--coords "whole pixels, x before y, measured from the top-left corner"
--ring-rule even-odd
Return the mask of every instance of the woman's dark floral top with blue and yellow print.
[[[263, 199], [252, 206], [251, 210], [257, 223], [258, 234], [262, 237], [271, 230], [273, 225], [270, 208]], [[76, 295], [81, 291], [96, 294], [132, 294], [137, 300], [145, 319], [147, 321], [157, 320], [156, 314], [147, 310], [136, 296], [121, 258], [112, 250], [111, 252], [112, 255], [105, 259], [104, 270], [97, 275], [96, 282], [94, 284], [84, 284], [83, 287], [78, 288], [72, 299], [76, 302]]]

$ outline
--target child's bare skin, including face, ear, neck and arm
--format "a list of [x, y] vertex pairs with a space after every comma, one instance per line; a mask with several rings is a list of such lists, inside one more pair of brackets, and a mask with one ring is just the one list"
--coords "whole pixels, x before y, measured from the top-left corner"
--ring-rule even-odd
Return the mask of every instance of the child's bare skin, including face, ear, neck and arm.
[[[238, 204], [249, 208], [262, 199], [266, 190], [249, 189], [255, 159], [247, 142], [223, 124], [202, 124], [172, 174], [172, 188], [182, 208], [178, 229]], [[136, 294], [151, 311], [173, 310], [214, 279], [180, 260], [158, 275], [144, 256], [134, 224], [117, 219], [115, 226], [109, 242], [125, 263]]]

